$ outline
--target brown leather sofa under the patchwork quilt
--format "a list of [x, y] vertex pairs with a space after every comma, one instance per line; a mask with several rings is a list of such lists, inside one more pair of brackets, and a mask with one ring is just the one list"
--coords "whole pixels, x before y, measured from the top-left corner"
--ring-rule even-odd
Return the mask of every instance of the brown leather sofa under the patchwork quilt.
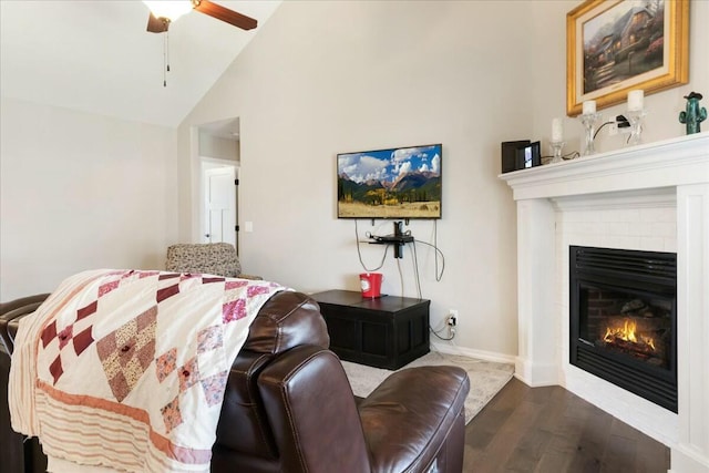
[[[10, 429], [7, 385], [18, 320], [47, 295], [0, 305], [2, 471], [44, 471], [35, 439]], [[328, 350], [319, 307], [278, 292], [260, 309], [234, 361], [213, 449], [213, 472], [461, 472], [465, 371], [425, 367], [353, 397]]]

